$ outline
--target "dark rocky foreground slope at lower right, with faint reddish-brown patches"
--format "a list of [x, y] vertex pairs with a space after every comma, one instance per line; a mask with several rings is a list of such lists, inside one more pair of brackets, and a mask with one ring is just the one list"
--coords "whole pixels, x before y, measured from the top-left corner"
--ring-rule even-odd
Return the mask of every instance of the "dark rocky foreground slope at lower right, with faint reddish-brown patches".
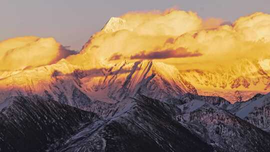
[[270, 134], [207, 101], [179, 105], [177, 120], [217, 151], [269, 151]]

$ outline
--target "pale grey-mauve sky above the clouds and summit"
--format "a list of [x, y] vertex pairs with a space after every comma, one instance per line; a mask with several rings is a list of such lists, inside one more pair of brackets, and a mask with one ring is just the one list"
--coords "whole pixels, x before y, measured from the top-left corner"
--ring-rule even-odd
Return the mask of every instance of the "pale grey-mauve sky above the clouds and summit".
[[0, 0], [0, 40], [54, 37], [79, 50], [111, 16], [129, 11], [176, 7], [232, 22], [256, 11], [270, 13], [269, 5], [270, 0]]

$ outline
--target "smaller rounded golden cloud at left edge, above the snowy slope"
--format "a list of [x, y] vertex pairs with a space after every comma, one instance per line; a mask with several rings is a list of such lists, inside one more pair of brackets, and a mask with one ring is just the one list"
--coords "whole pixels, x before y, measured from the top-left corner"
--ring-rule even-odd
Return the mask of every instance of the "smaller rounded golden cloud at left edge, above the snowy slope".
[[24, 36], [0, 42], [0, 70], [19, 70], [55, 63], [73, 51], [53, 38]]

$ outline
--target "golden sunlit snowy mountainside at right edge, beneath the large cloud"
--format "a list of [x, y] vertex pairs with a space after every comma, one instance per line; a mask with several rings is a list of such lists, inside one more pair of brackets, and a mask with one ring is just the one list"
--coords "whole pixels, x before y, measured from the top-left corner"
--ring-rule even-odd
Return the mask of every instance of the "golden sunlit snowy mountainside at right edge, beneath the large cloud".
[[200, 95], [220, 96], [231, 102], [244, 101], [256, 93], [269, 92], [269, 60], [240, 59], [216, 70], [183, 70], [182, 76]]

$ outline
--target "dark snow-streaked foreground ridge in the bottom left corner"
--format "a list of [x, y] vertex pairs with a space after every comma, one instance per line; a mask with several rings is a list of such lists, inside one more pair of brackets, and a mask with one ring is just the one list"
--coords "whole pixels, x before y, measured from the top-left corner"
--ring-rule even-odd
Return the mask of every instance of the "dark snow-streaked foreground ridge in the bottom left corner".
[[8, 98], [0, 111], [0, 151], [45, 151], [98, 119], [83, 111], [39, 96]]

